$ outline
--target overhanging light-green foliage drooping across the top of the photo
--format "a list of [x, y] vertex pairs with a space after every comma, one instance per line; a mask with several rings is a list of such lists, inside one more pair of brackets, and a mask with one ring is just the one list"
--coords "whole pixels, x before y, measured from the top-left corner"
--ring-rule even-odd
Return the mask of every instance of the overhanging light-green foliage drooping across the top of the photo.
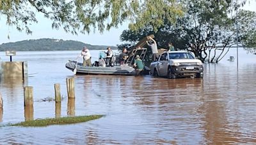
[[124, 22], [138, 31], [145, 25], [154, 24], [154, 29], [163, 25], [163, 20], [175, 22], [182, 13], [179, 0], [1, 0], [0, 16], [6, 24], [19, 31], [31, 34], [29, 25], [38, 22], [36, 15], [42, 13], [52, 21], [52, 29], [77, 32], [109, 30]]

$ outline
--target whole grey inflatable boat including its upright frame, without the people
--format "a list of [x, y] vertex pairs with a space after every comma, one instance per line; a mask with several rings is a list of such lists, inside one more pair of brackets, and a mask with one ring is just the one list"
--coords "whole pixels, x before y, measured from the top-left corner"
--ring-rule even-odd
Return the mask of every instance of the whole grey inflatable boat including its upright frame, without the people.
[[[145, 59], [147, 48], [143, 48], [143, 46], [146, 44], [146, 41], [150, 39], [150, 37], [154, 38], [154, 35], [147, 36], [146, 38], [142, 39], [137, 45], [135, 45], [129, 52], [129, 57], [122, 65], [120, 65], [115, 57], [113, 57], [111, 60], [111, 65], [106, 67], [106, 56], [103, 56], [104, 52], [100, 52], [99, 61], [94, 62], [91, 67], [83, 66], [82, 63], [77, 62], [76, 60], [68, 60], [65, 66], [67, 67], [67, 69], [73, 71], [74, 74], [112, 74], [125, 76], [134, 75], [135, 69], [132, 66], [135, 56], [139, 55], [141, 60]], [[148, 71], [149, 69], [145, 68], [145, 70]]]

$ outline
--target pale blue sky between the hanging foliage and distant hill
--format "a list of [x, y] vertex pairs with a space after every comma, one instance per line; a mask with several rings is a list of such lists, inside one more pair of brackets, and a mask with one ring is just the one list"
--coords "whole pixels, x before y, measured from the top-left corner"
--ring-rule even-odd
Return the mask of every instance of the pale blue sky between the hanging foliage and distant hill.
[[[246, 6], [244, 6], [244, 9], [256, 11], [256, 1], [251, 1], [250, 4], [247, 3]], [[6, 25], [6, 19], [3, 17], [0, 18], [0, 44], [22, 41], [26, 39], [54, 38], [81, 41], [91, 45], [116, 46], [122, 43], [120, 41], [120, 34], [122, 34], [122, 31], [128, 29], [128, 23], [124, 23], [123, 25], [120, 25], [118, 29], [112, 28], [109, 31], [104, 31], [103, 34], [96, 31], [95, 33], [91, 32], [90, 34], [72, 35], [63, 31], [61, 28], [59, 30], [52, 29], [51, 20], [44, 18], [41, 15], [37, 16], [36, 18], [38, 18], [38, 23], [33, 24], [30, 27], [31, 31], [33, 31], [32, 35], [28, 35], [24, 31], [17, 31], [15, 27]], [[10, 39], [7, 37], [8, 34]]]

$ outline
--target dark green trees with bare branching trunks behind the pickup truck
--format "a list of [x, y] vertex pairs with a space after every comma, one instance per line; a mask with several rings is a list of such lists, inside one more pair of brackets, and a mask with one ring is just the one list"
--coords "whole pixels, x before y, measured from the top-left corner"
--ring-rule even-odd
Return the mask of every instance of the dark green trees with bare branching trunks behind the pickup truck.
[[[244, 4], [244, 3], [242, 3]], [[232, 1], [187, 1], [184, 17], [178, 18], [176, 24], [164, 21], [164, 25], [154, 31], [151, 27], [140, 29], [136, 34], [131, 30], [124, 31], [122, 41], [138, 41], [148, 34], [155, 34], [158, 45], [166, 47], [169, 41], [179, 49], [195, 53], [203, 62], [219, 62], [228, 50], [236, 45], [236, 15], [232, 15], [237, 7]], [[241, 5], [242, 6], [242, 5]], [[250, 47], [255, 51], [256, 15], [253, 11], [241, 10], [238, 13], [239, 45]], [[250, 27], [246, 31], [244, 28]]]

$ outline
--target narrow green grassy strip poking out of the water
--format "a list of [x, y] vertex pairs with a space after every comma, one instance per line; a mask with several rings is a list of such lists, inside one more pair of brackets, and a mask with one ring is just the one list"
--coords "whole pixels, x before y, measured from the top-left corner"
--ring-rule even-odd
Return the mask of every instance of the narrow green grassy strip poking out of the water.
[[97, 120], [103, 115], [90, 115], [90, 116], [74, 116], [74, 117], [63, 117], [63, 118], [46, 118], [40, 120], [24, 121], [15, 123], [10, 126], [21, 126], [21, 127], [47, 127], [49, 125], [68, 125], [74, 123], [81, 123], [90, 120]]

